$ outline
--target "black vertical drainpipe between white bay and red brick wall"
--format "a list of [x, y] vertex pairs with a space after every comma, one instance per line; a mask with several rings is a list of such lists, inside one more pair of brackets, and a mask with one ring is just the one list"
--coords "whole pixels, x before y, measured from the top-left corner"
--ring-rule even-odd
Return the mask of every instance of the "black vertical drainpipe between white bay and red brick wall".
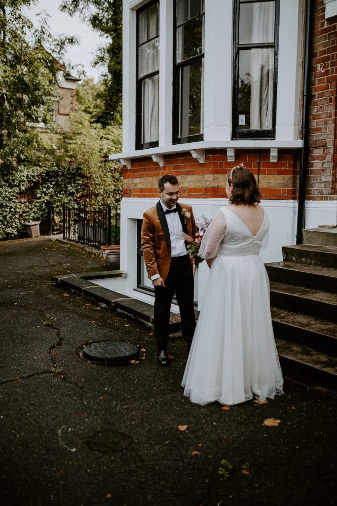
[[310, 66], [311, 66], [311, 32], [312, 32], [312, 5], [307, 0], [305, 21], [305, 47], [304, 47], [304, 82], [303, 82], [303, 109], [302, 109], [302, 140], [300, 177], [299, 177], [299, 202], [297, 209], [297, 232], [296, 244], [302, 244], [305, 226], [305, 197], [307, 189], [307, 166], [309, 148], [309, 100], [310, 100]]

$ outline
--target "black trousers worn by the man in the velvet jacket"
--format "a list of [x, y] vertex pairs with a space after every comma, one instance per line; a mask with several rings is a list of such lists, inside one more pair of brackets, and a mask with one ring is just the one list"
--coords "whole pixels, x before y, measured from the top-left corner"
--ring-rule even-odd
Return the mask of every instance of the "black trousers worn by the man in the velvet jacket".
[[194, 278], [188, 255], [171, 258], [165, 286], [155, 286], [154, 330], [158, 350], [167, 350], [173, 294], [180, 311], [182, 336], [191, 342], [196, 328]]

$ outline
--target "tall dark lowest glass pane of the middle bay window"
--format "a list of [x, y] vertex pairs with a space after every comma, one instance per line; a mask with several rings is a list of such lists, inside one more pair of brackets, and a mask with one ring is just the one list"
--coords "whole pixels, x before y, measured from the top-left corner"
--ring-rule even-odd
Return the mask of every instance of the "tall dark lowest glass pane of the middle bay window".
[[204, 131], [204, 59], [180, 69], [179, 136]]

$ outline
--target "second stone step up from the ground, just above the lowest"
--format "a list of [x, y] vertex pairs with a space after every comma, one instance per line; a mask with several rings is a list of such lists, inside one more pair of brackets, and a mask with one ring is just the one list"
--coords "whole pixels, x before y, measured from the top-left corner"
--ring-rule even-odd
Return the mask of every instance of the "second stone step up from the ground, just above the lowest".
[[337, 356], [337, 323], [271, 308], [275, 338]]

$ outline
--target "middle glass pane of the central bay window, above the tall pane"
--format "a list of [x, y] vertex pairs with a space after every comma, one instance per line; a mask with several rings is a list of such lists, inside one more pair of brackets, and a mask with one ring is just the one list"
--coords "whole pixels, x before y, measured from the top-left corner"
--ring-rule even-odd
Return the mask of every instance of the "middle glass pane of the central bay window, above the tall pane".
[[204, 16], [177, 28], [176, 61], [181, 62], [204, 52]]

